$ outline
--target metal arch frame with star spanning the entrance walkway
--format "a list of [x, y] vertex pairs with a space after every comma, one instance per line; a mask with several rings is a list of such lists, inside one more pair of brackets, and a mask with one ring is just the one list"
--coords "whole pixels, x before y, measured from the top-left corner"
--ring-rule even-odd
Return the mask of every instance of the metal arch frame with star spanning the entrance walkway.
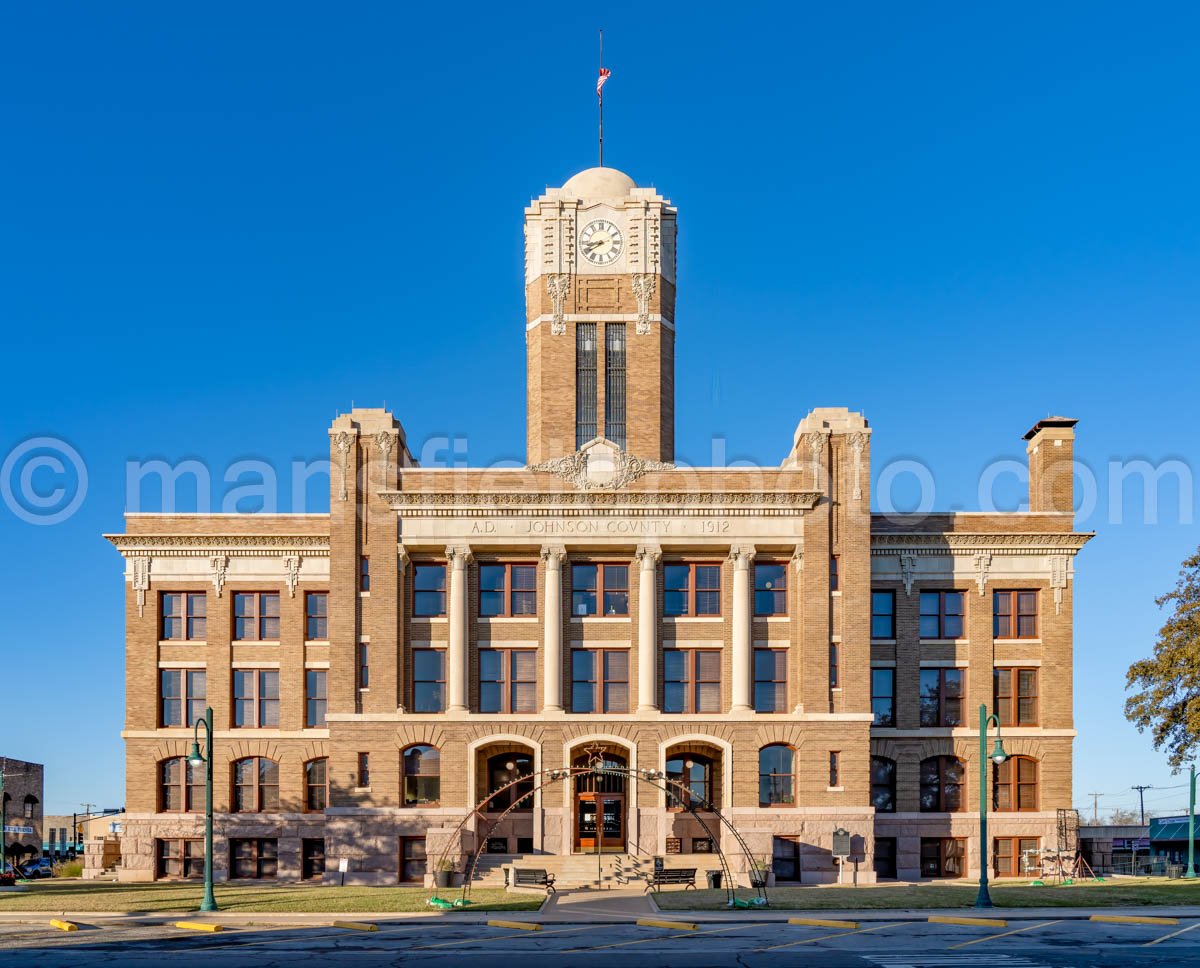
[[[752, 874], [751, 874], [751, 886], [745, 890], [752, 891], [754, 897], [750, 901], [740, 901], [738, 898], [737, 896], [738, 888], [736, 885], [733, 871], [730, 867], [728, 859], [725, 856], [725, 850], [721, 849], [721, 838], [716, 836], [719, 830], [714, 831], [713, 828], [709, 826], [708, 822], [703, 817], [701, 817], [700, 813], [696, 811], [696, 804], [694, 802], [696, 800], [696, 796], [690, 788], [685, 787], [683, 783], [671, 780], [662, 772], [662, 770], [654, 770], [654, 769], [631, 770], [628, 766], [617, 766], [611, 763], [607, 763], [605, 760], [606, 750], [602, 747], [594, 747], [594, 746], [588, 747], [584, 752], [589, 753], [588, 765], [586, 766], [563, 766], [559, 769], [538, 770], [536, 772], [529, 772], [518, 776], [515, 780], [511, 780], [508, 783], [505, 783], [503, 787], [499, 787], [488, 793], [487, 796], [480, 800], [470, 810], [470, 812], [467, 813], [467, 816], [458, 822], [458, 825], [454, 829], [454, 832], [448, 840], [446, 846], [438, 855], [438, 860], [433, 870], [440, 871], [448, 868], [451, 853], [458, 853], [457, 844], [461, 842], [461, 834], [463, 828], [472, 820], [472, 818], [476, 818], [482, 823], [487, 823], [488, 819], [487, 817], [484, 816], [484, 807], [487, 806], [492, 800], [494, 800], [499, 794], [511, 790], [522, 783], [528, 783], [530, 780], [534, 781], [534, 786], [532, 789], [526, 792], [518, 799], [514, 800], [512, 804], [510, 804], [509, 807], [492, 822], [493, 826], [499, 825], [509, 816], [509, 813], [511, 813], [514, 810], [517, 808], [520, 804], [528, 801], [535, 793], [538, 793], [541, 789], [545, 789], [546, 787], [553, 783], [562, 782], [566, 784], [571, 780], [578, 776], [619, 776], [626, 780], [636, 780], [638, 783], [643, 783], [648, 787], [652, 787], [653, 789], [660, 790], [668, 795], [671, 795], [672, 793], [679, 794], [676, 799], [678, 800], [679, 804], [684, 805], [684, 808], [691, 814], [692, 819], [695, 819], [703, 828], [704, 832], [708, 835], [709, 840], [713, 843], [713, 848], [716, 850], [718, 858], [721, 862], [722, 882], [725, 884], [725, 894], [730, 907], [742, 907], [742, 906], [761, 907], [769, 903], [767, 897], [766, 878], [762, 879], [763, 883], [755, 885]], [[730, 823], [728, 818], [726, 818], [725, 814], [721, 813], [721, 811], [718, 810], [710, 801], [701, 799], [700, 806], [706, 812], [714, 814], [716, 819], [720, 822], [720, 825], [724, 826], [724, 829], [727, 830], [733, 836], [733, 838], [738, 843], [738, 847], [742, 849], [743, 855], [746, 859], [746, 870], [752, 872], [756, 868], [755, 858], [750, 853], [750, 848], [746, 846], [746, 842], [743, 838], [742, 834], [738, 832], [738, 829], [732, 823]], [[487, 844], [486, 837], [478, 837], [478, 840], [479, 843], [475, 847], [474, 854], [472, 854], [470, 865], [462, 872], [463, 873], [462, 897], [461, 897], [462, 904], [466, 904], [469, 900], [470, 885], [475, 879], [475, 870], [479, 865], [479, 858], [484, 853], [484, 848]]]

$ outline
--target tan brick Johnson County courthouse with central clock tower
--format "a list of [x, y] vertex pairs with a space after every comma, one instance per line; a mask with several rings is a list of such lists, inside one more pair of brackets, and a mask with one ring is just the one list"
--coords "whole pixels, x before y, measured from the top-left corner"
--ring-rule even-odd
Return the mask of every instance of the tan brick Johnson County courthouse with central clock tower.
[[[122, 877], [202, 870], [185, 757], [206, 705], [220, 878], [344, 859], [348, 883], [420, 882], [476, 846], [562, 870], [721, 848], [744, 871], [718, 811], [779, 880], [835, 879], [839, 828], [863, 880], [973, 874], [980, 703], [1013, 754], [995, 871], [1054, 846], [1075, 421], [1025, 435], [1018, 513], [872, 515], [871, 429], [841, 408], [776, 467], [676, 467], [676, 217], [612, 168], [526, 210], [526, 467], [421, 468], [392, 414], [355, 409], [329, 428], [329, 513], [137, 513], [109, 536]], [[680, 788], [541, 782], [598, 753]]]

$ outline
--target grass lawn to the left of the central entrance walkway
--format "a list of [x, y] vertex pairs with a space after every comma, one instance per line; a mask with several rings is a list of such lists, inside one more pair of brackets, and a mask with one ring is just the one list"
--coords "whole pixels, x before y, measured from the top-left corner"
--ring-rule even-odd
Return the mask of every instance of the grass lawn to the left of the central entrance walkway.
[[[0, 894], [0, 913], [38, 912], [144, 912], [187, 913], [200, 903], [199, 884], [108, 884], [91, 880], [43, 880], [19, 894]], [[424, 888], [318, 888], [280, 884], [277, 886], [216, 885], [217, 906], [240, 913], [312, 912], [341, 914], [364, 912], [422, 910], [436, 908], [425, 901], [434, 894]], [[460, 890], [440, 891], [452, 901]], [[476, 889], [470, 892], [469, 910], [536, 910], [541, 897], [506, 894], [503, 889]]]

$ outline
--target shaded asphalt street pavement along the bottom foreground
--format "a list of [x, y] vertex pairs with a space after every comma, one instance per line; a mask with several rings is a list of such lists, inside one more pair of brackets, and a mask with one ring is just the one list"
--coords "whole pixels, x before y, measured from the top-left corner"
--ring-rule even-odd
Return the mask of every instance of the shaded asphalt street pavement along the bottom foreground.
[[[1156, 912], [1157, 913], [1157, 912]], [[961, 912], [960, 912], [961, 914]], [[872, 916], [886, 916], [874, 912]], [[656, 920], [688, 924], [685, 913]], [[824, 915], [821, 915], [824, 916]], [[997, 915], [997, 916], [1003, 916]], [[266, 919], [269, 915], [260, 915]], [[503, 920], [503, 915], [496, 915]], [[0, 968], [6, 966], [161, 966], [172, 968], [294, 968], [347, 963], [382, 966], [661, 966], [661, 968], [1135, 968], [1200, 966], [1200, 915], [1177, 924], [1110, 924], [1079, 912], [1010, 920], [1004, 927], [871, 920], [832, 928], [743, 919], [692, 921], [696, 930], [636, 922], [550, 922], [540, 931], [457, 920], [379, 919], [372, 932], [323, 925], [229, 926], [196, 933], [155, 919], [79, 921], [59, 932], [44, 921], [0, 922]], [[360, 919], [360, 920], [366, 920]], [[538, 915], [512, 918], [538, 922]]]

